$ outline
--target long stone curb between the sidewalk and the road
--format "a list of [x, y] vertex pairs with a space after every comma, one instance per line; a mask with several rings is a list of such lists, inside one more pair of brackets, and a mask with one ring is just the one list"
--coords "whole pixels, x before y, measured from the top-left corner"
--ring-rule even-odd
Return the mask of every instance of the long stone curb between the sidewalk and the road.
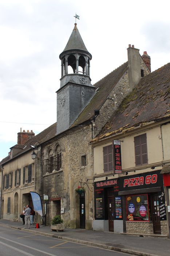
[[[1, 226], [5, 226], [5, 225], [1, 225]], [[137, 256], [160, 256], [160, 255], [156, 255], [156, 254], [135, 251], [133, 249], [123, 249], [123, 248], [119, 248], [119, 247], [115, 247], [115, 246], [109, 246], [109, 245], [104, 245], [104, 244], [96, 244], [96, 243], [93, 243], [93, 242], [78, 240], [76, 238], [58, 236], [58, 235], [44, 233], [44, 232], [37, 231], [37, 230], [32, 230], [32, 229], [31, 230], [23, 229], [21, 227], [16, 227], [16, 226], [6, 226], [6, 227], [12, 227], [13, 229], [28, 231], [30, 233], [36, 233], [36, 234], [43, 235], [43, 236], [58, 238], [58, 239], [66, 240], [66, 241], [70, 241], [70, 242], [76, 242], [78, 244], [89, 245], [89, 246], [98, 247], [98, 248], [102, 248], [102, 249], [108, 249], [108, 250], [116, 251], [116, 252], [129, 253], [129, 254], [137, 255]]]

